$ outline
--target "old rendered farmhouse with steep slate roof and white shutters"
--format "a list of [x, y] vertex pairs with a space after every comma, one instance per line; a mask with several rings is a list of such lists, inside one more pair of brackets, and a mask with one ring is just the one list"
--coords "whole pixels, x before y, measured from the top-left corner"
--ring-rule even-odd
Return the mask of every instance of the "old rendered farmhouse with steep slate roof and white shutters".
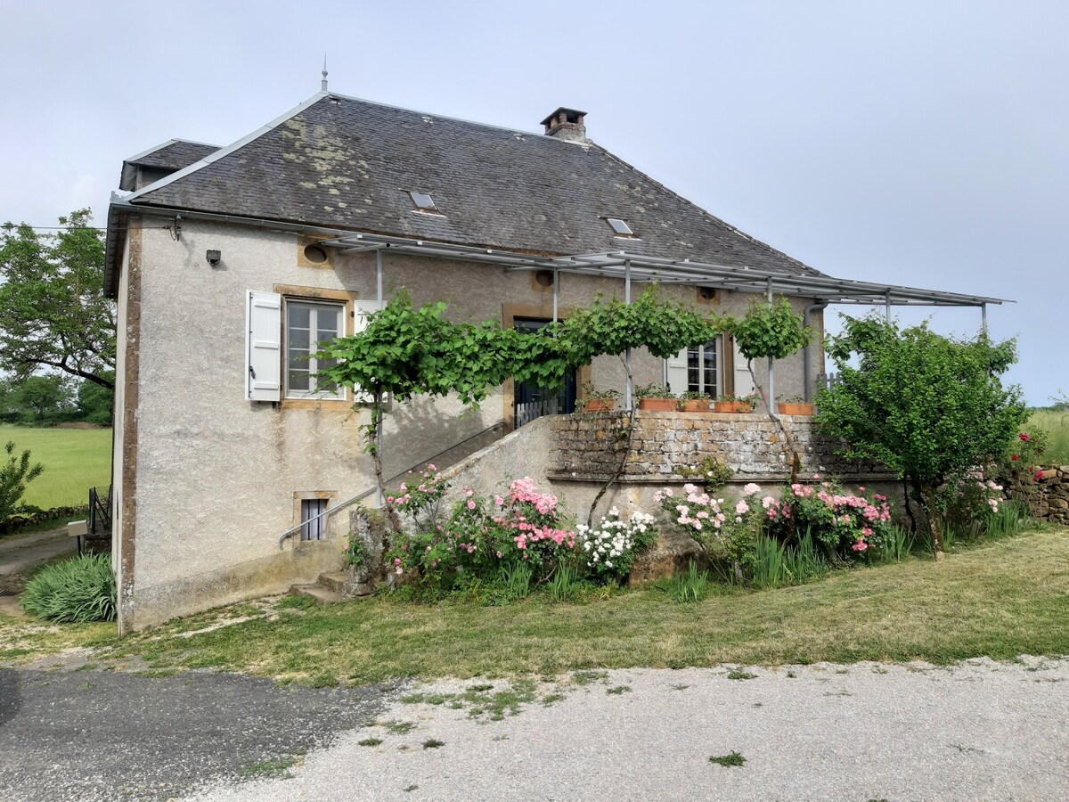
[[[357, 430], [368, 412], [320, 387], [311, 355], [402, 288], [416, 305], [448, 302], [456, 319], [532, 328], [651, 281], [717, 312], [785, 294], [818, 334], [828, 303], [997, 303], [830, 278], [599, 146], [584, 112], [559, 108], [542, 125], [394, 108], [324, 81], [230, 145], [171, 140], [123, 163], [106, 265], [120, 320], [121, 632], [340, 566], [332, 513], [374, 485]], [[777, 394], [812, 392], [819, 341], [777, 363]], [[633, 372], [676, 392], [753, 389], [730, 338], [676, 359], [635, 354]], [[461, 469], [481, 489], [531, 473], [568, 498], [570, 475], [591, 477], [551, 464], [567, 449], [548, 422], [576, 408], [585, 382], [622, 389], [624, 375], [600, 358], [552, 397], [509, 382], [466, 415], [452, 399], [393, 404], [387, 474], [468, 458]]]

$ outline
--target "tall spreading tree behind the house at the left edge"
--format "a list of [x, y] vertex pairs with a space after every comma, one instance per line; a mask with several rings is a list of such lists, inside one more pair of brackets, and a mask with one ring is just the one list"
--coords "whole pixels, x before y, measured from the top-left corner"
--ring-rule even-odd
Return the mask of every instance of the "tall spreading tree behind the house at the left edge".
[[40, 233], [0, 227], [0, 370], [41, 369], [113, 387], [115, 307], [104, 296], [104, 235], [88, 209]]

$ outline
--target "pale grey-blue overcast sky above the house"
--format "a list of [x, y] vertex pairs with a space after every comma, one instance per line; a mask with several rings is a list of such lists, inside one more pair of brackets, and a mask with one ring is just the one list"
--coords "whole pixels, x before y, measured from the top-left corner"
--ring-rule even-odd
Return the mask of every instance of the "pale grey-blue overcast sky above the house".
[[0, 220], [103, 225], [123, 158], [245, 136], [319, 90], [326, 52], [341, 94], [531, 132], [585, 109], [591, 139], [830, 275], [1012, 298], [989, 310], [1011, 380], [1069, 390], [1065, 0], [0, 10]]

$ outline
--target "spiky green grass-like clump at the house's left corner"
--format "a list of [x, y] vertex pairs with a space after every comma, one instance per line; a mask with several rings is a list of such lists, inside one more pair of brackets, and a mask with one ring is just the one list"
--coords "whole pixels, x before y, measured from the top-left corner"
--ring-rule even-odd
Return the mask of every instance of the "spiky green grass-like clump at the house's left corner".
[[58, 623], [115, 620], [111, 558], [86, 554], [41, 569], [19, 598], [22, 610]]

